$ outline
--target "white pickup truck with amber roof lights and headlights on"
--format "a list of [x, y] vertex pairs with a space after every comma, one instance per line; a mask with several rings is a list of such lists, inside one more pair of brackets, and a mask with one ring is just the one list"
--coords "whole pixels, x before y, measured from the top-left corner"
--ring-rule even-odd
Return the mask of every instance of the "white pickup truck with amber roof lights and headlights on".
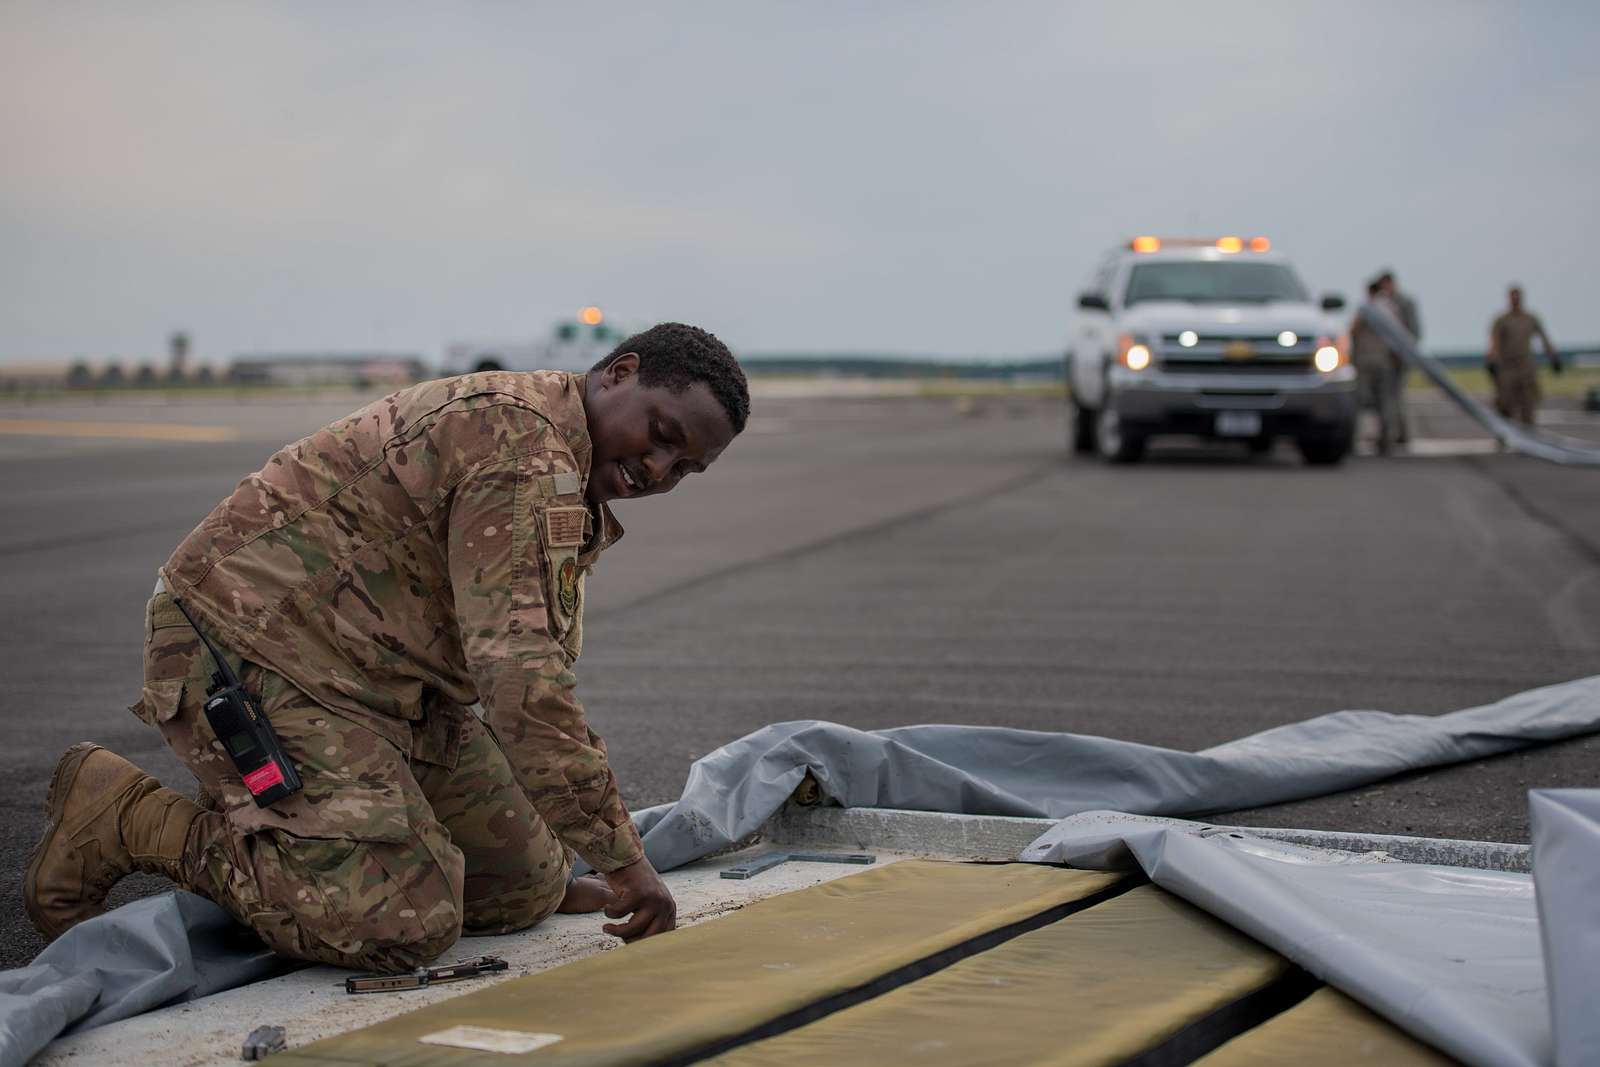
[[1072, 446], [1134, 462], [1158, 434], [1293, 437], [1336, 464], [1355, 435], [1344, 299], [1314, 302], [1264, 237], [1136, 237], [1078, 296], [1069, 381]]

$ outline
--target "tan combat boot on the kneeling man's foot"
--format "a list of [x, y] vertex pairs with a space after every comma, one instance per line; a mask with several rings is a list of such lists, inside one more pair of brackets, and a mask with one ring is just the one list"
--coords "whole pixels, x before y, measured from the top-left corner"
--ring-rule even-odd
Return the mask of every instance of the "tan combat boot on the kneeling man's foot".
[[22, 880], [27, 917], [46, 939], [106, 910], [134, 870], [182, 885], [182, 854], [200, 808], [88, 741], [67, 749], [50, 779], [50, 824]]

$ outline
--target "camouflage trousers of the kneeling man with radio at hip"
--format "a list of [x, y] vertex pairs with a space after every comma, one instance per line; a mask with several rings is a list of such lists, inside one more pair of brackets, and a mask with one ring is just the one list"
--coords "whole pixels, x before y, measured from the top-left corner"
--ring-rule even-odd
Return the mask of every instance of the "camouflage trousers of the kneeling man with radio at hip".
[[222, 648], [304, 782], [258, 808], [205, 718], [210, 654], [170, 595], [146, 611], [144, 693], [131, 710], [211, 798], [189, 835], [186, 888], [275, 952], [403, 971], [462, 933], [522, 929], [560, 904], [566, 849], [469, 709], [440, 701], [416, 721], [395, 720], [411, 733], [405, 750], [392, 731], [341, 718]]

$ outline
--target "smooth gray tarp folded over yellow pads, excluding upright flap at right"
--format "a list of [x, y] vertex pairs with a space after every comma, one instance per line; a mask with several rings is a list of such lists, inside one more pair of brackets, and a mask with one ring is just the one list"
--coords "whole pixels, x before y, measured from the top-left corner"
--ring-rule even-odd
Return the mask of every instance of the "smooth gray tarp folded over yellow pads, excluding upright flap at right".
[[1550, 1062], [1539, 915], [1528, 875], [1350, 862], [1208, 830], [1198, 822], [1080, 814], [1029, 845], [1021, 859], [1141, 867], [1155, 885], [1462, 1062]]

